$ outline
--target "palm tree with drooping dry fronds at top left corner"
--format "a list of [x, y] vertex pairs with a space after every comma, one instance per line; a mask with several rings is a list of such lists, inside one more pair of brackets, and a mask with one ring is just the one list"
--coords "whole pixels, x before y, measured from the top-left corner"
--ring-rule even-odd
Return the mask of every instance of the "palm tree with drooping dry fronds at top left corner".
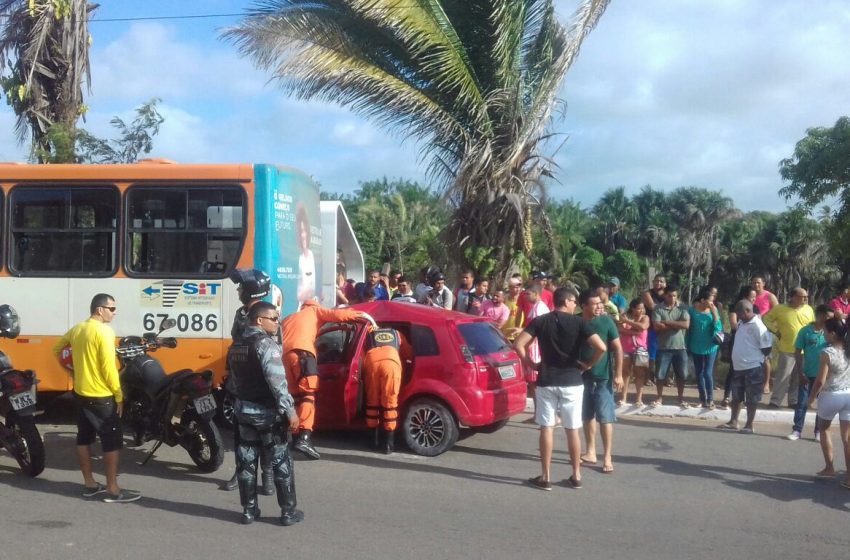
[[0, 0], [0, 67], [7, 72], [0, 85], [18, 116], [18, 140], [29, 132], [40, 161], [51, 152], [55, 125], [70, 144], [63, 159], [73, 161], [83, 81], [91, 87], [88, 18], [96, 8], [86, 0]]

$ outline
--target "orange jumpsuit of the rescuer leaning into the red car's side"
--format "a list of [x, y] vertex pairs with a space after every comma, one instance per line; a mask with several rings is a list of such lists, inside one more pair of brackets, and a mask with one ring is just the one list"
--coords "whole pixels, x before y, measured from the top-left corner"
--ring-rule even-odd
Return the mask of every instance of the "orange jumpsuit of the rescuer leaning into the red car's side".
[[398, 426], [398, 393], [401, 390], [402, 360], [412, 355], [410, 344], [398, 335], [400, 349], [379, 346], [368, 350], [363, 358], [366, 383], [366, 426], [377, 428], [382, 420], [384, 430], [395, 431]]

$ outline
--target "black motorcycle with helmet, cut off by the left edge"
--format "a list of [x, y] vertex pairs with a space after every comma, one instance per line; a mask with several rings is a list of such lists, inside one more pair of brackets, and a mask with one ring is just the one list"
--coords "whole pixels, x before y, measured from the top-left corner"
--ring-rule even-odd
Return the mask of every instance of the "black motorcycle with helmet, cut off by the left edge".
[[[14, 328], [9, 322], [14, 321]], [[0, 337], [18, 336], [17, 313], [8, 305], [0, 306]], [[35, 477], [44, 470], [44, 442], [35, 425], [35, 386], [32, 370], [18, 370], [0, 351], [0, 447], [5, 447], [21, 470]]]

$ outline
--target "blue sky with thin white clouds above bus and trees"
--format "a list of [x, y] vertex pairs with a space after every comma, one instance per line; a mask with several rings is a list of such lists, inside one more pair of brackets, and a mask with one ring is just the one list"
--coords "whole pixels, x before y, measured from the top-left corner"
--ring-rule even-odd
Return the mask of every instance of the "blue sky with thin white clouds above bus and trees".
[[[555, 0], [566, 19], [576, 6]], [[104, 2], [95, 20], [241, 13], [250, 2]], [[284, 97], [218, 31], [238, 17], [92, 21], [83, 124], [109, 135], [151, 97], [166, 118], [153, 156], [269, 162], [348, 192], [381, 176], [424, 182], [415, 143], [332, 105]], [[613, 0], [562, 91], [567, 142], [557, 198], [592, 205], [607, 188], [718, 189], [745, 210], [781, 210], [780, 159], [811, 126], [850, 114], [850, 3]], [[25, 158], [0, 109], [0, 159]]]

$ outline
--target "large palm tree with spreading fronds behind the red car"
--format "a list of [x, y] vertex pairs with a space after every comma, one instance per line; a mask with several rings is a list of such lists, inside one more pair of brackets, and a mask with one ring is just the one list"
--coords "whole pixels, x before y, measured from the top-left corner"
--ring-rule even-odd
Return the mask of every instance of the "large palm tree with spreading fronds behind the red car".
[[448, 248], [492, 247], [505, 269], [548, 227], [543, 144], [608, 3], [584, 0], [564, 28], [552, 0], [265, 0], [224, 36], [285, 92], [421, 141], [453, 208]]

